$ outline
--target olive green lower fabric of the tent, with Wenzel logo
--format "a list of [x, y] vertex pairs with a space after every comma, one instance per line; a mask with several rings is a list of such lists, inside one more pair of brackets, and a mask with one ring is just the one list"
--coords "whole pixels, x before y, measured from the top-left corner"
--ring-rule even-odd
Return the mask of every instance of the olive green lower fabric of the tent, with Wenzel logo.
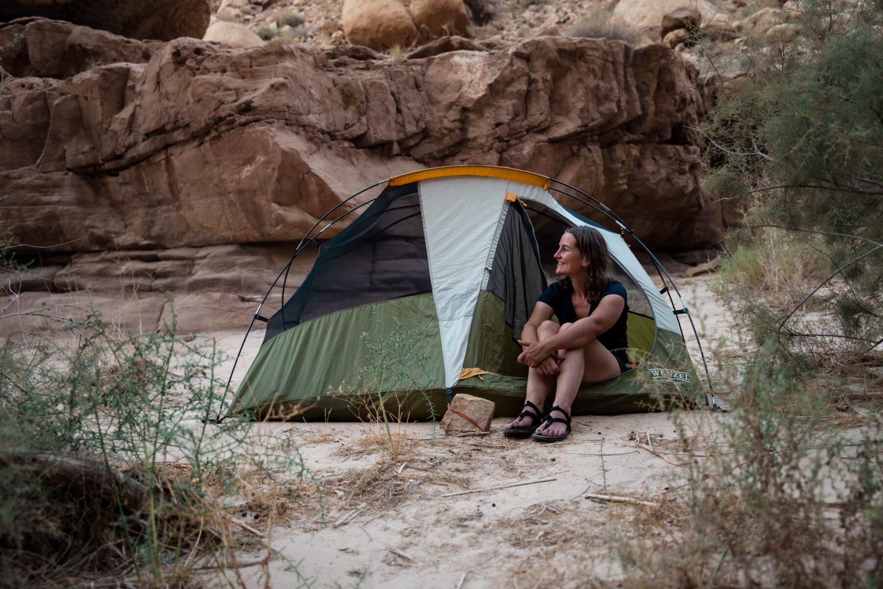
[[[654, 344], [652, 333], [653, 320], [630, 315], [630, 351], [643, 361], [607, 381], [585, 383], [574, 415], [653, 411], [672, 399], [698, 402], [702, 390], [683, 340], [660, 331]], [[479, 293], [464, 368], [490, 374], [460, 380], [456, 391], [494, 401], [497, 415], [516, 415], [527, 382], [526, 367], [517, 363], [519, 352], [502, 301]], [[440, 419], [446, 389], [441, 358], [431, 293], [344, 309], [264, 344], [245, 374], [232, 413], [351, 421], [369, 417], [368, 410], [382, 399], [388, 411], [403, 419]]]

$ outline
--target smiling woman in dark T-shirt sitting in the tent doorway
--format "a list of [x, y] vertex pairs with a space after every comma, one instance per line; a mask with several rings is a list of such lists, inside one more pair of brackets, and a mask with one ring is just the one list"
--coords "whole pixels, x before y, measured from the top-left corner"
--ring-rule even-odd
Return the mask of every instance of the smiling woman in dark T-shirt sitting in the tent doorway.
[[[525, 406], [506, 425], [506, 435], [531, 435], [559, 441], [570, 435], [570, 406], [579, 385], [601, 381], [629, 369], [626, 354], [628, 295], [611, 278], [613, 264], [598, 230], [571, 227], [555, 252], [561, 278], [540, 295], [522, 331], [518, 361], [530, 366]], [[558, 323], [552, 321], [552, 315]], [[542, 416], [540, 407], [552, 385], [555, 404]]]

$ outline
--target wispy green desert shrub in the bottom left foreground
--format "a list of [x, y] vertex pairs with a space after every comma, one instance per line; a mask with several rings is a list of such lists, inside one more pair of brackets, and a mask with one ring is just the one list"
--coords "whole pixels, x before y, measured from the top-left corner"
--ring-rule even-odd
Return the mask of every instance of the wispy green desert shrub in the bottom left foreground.
[[0, 348], [0, 583], [193, 586], [192, 568], [236, 570], [260, 543], [230, 507], [249, 480], [278, 493], [306, 471], [290, 442], [209, 422], [220, 354], [199, 341], [174, 321], [111, 336], [87, 309]]

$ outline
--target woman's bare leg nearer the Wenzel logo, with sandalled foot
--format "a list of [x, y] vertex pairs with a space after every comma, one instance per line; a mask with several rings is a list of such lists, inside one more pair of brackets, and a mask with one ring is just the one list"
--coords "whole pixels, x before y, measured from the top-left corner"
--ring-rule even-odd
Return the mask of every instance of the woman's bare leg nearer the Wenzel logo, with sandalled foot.
[[[569, 327], [570, 323], [565, 323], [561, 330]], [[559, 364], [561, 372], [558, 373], [555, 387], [555, 405], [561, 407], [568, 415], [580, 384], [601, 381], [620, 373], [619, 363], [614, 355], [598, 340], [592, 340], [582, 348], [559, 350], [558, 353], [564, 359]], [[564, 417], [557, 411], [552, 412], [551, 415], [557, 418]], [[563, 435], [565, 432], [567, 426], [563, 423], [553, 423], [548, 427], [544, 424], [537, 429], [537, 434], [540, 435]]]

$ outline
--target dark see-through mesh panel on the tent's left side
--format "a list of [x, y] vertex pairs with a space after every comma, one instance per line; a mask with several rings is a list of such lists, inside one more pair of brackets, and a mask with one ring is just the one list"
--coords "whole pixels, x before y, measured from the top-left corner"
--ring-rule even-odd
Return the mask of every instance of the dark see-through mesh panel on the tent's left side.
[[264, 342], [328, 313], [428, 291], [417, 183], [388, 186], [365, 213], [321, 245], [304, 283], [270, 317]]

